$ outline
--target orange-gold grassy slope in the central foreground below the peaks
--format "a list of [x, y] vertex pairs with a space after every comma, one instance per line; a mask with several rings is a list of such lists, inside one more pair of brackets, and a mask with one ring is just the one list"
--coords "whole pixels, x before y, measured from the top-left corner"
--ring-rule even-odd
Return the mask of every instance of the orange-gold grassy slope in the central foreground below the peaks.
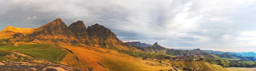
[[171, 67], [152, 66], [149, 64], [157, 63], [145, 60], [135, 59], [127, 54], [119, 53], [105, 48], [96, 47], [76, 47], [64, 46], [64, 48], [72, 51], [79, 59], [74, 60], [74, 55], [71, 53], [61, 61], [68, 65], [76, 65], [79, 62], [79, 68], [93, 71], [168, 71]]

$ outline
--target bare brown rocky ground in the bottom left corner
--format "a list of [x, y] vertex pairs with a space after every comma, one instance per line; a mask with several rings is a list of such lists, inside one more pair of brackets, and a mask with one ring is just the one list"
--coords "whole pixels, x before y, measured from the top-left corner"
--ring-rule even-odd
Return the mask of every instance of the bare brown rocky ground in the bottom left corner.
[[13, 52], [5, 56], [6, 61], [0, 62], [0, 71], [75, 71], [79, 68], [73, 68], [66, 65], [51, 63], [47, 60], [29, 57], [24, 54]]

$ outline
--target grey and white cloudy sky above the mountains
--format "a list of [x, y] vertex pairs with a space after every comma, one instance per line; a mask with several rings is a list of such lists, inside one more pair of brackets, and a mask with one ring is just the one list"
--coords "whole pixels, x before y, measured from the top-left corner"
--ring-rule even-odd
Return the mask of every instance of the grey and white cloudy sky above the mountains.
[[256, 52], [253, 0], [0, 0], [0, 30], [61, 18], [110, 28], [124, 41], [166, 48]]

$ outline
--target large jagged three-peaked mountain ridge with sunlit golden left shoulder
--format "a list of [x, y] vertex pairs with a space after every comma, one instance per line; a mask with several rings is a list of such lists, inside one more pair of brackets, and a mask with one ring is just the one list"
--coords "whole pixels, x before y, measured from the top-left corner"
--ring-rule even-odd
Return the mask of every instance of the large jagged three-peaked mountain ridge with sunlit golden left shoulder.
[[67, 44], [74, 46], [96, 46], [113, 50], [134, 50], [128, 43], [120, 41], [108, 28], [95, 24], [85, 27], [83, 21], [67, 26], [60, 18], [39, 28], [7, 27], [0, 31], [0, 42], [26, 42], [41, 44]]

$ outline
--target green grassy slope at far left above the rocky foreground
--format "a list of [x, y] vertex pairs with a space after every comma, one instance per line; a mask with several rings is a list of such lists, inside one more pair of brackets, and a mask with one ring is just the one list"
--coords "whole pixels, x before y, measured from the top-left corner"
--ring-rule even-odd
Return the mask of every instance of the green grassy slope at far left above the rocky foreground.
[[60, 46], [49, 44], [25, 44], [20, 46], [12, 46], [13, 43], [1, 43], [0, 50], [20, 51], [32, 57], [37, 57], [51, 62], [61, 62], [68, 51], [61, 49]]

